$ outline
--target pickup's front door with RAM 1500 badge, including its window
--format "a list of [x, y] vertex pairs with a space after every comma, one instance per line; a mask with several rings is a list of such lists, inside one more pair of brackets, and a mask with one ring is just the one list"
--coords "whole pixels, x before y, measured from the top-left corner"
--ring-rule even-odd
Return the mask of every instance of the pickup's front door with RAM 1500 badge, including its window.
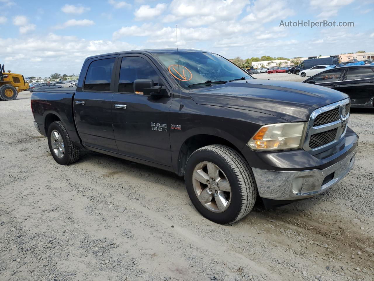
[[118, 60], [112, 112], [119, 154], [171, 166], [169, 111], [172, 97], [155, 98], [134, 93], [135, 79], [153, 79], [165, 85], [154, 64], [141, 54]]

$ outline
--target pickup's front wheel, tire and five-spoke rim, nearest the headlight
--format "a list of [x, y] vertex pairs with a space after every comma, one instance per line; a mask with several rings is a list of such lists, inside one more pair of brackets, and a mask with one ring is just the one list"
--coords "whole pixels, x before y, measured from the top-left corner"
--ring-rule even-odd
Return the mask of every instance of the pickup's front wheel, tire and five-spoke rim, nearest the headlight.
[[[200, 165], [203, 165], [202, 163], [213, 164], [215, 167], [218, 167], [220, 171], [217, 172], [217, 179], [215, 181], [209, 178], [211, 175], [208, 175], [207, 167], [199, 170], [202, 167]], [[194, 172], [196, 171], [200, 171], [199, 173], [203, 172], [204, 176], [202, 179], [210, 179], [213, 185], [208, 181], [206, 184], [201, 184], [200, 181], [197, 181], [194, 178], [194, 175], [196, 175]], [[208, 220], [219, 224], [232, 224], [245, 217], [252, 210], [257, 197], [254, 175], [245, 158], [225, 145], [208, 145], [193, 152], [187, 160], [184, 179], [188, 196], [197, 211]], [[219, 187], [220, 183], [221, 187]], [[227, 186], [230, 189], [229, 193], [219, 189], [224, 189], [223, 187], [227, 189]], [[196, 187], [199, 191], [196, 191]], [[217, 189], [219, 190], [218, 193]], [[199, 196], [207, 196], [205, 193], [209, 193], [210, 191], [208, 190], [212, 191], [211, 195], [214, 200], [211, 203], [203, 204], [200, 202], [197, 194], [200, 192]], [[216, 196], [215, 194], [221, 193], [226, 197], [225, 200], [229, 198], [227, 200], [229, 203], [227, 203], [226, 209], [219, 210], [218, 204], [215, 203], [215, 198], [219, 198], [220, 196]], [[227, 194], [230, 195], [228, 196]], [[204, 198], [202, 197], [201, 199]], [[209, 200], [208, 198], [208, 200], [203, 201], [208, 202]], [[208, 206], [209, 204], [210, 206]]]

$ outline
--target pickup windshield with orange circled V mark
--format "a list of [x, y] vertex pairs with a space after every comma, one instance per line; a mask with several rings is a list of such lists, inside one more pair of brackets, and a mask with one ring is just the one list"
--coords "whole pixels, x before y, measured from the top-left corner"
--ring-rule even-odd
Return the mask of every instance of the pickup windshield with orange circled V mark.
[[[234, 79], [253, 79], [241, 68], [217, 54], [203, 52], [154, 54], [174, 79], [187, 89], [189, 86], [209, 87]], [[211, 83], [206, 83], [210, 81]], [[202, 84], [200, 84], [202, 83]]]

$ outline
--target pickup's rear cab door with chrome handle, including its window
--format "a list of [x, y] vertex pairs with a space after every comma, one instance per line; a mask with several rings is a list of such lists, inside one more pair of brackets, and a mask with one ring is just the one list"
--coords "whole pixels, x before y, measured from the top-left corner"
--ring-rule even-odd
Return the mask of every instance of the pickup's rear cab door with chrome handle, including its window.
[[112, 109], [114, 62], [118, 55], [86, 61], [82, 88], [74, 95], [73, 109], [78, 133], [84, 145], [117, 152]]

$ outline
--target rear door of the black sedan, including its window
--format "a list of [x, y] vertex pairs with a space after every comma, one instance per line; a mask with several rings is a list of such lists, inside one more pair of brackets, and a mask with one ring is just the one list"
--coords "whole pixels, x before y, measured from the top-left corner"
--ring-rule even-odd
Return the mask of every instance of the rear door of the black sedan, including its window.
[[349, 67], [340, 90], [352, 100], [352, 105], [373, 106], [374, 67]]

